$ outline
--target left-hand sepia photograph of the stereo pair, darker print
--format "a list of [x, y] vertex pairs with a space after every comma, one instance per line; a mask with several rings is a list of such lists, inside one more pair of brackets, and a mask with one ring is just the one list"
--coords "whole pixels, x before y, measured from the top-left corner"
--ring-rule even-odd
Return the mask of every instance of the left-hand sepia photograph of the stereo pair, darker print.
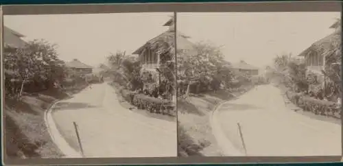
[[177, 156], [174, 13], [3, 16], [8, 158]]

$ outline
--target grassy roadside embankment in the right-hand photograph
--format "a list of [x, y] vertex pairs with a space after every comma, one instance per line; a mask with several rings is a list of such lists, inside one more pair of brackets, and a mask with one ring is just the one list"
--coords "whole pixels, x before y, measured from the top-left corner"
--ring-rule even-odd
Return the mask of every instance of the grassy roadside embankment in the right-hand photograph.
[[178, 156], [222, 156], [212, 134], [211, 112], [241, 93], [217, 91], [178, 99]]

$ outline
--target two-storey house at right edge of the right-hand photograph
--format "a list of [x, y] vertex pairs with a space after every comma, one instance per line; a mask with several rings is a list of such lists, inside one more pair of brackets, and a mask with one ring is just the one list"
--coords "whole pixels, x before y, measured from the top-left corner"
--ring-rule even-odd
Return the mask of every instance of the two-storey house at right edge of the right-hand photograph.
[[312, 73], [322, 75], [322, 69], [324, 69], [325, 65], [328, 65], [325, 64], [327, 56], [340, 54], [339, 48], [342, 36], [338, 26], [340, 26], [340, 21], [330, 26], [331, 29], [335, 29], [335, 32], [316, 41], [316, 43], [298, 55], [303, 57], [307, 69]]

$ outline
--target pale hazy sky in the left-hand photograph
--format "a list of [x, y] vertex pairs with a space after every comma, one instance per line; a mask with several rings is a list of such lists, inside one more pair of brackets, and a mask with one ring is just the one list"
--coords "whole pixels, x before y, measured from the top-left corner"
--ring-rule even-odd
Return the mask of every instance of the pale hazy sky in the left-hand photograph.
[[4, 25], [27, 36], [58, 45], [62, 60], [78, 58], [90, 65], [117, 50], [132, 54], [147, 40], [165, 32], [173, 13], [58, 14], [4, 16]]

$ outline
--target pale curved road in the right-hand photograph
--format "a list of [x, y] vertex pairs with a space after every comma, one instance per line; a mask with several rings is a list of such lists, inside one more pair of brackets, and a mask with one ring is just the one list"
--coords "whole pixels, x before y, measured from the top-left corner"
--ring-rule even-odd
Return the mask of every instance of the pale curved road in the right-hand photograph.
[[290, 110], [272, 85], [257, 86], [222, 104], [212, 121], [225, 156], [340, 156], [342, 151], [340, 120], [319, 120]]

